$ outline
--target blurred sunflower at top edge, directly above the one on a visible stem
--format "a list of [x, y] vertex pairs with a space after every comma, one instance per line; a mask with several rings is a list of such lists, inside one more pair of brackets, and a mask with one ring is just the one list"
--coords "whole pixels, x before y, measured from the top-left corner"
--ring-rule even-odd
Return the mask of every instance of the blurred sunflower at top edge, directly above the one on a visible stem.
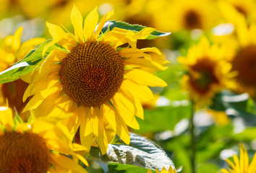
[[168, 1], [167, 9], [162, 10], [162, 19], [167, 30], [208, 30], [216, 25], [218, 9], [216, 3], [210, 0]]

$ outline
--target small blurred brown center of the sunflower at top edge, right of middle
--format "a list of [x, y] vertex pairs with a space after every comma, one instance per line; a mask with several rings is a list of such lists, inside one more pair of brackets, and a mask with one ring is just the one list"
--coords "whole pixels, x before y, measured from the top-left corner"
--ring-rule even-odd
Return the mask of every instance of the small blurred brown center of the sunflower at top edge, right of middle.
[[190, 9], [184, 14], [184, 27], [189, 30], [202, 28], [202, 22], [200, 14], [195, 12], [195, 10]]

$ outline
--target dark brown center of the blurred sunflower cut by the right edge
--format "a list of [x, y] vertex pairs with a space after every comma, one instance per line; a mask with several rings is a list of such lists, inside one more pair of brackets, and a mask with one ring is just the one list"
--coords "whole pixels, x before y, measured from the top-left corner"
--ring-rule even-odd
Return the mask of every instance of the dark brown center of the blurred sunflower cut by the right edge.
[[232, 61], [236, 79], [246, 86], [256, 86], [256, 45], [249, 45], [236, 54]]

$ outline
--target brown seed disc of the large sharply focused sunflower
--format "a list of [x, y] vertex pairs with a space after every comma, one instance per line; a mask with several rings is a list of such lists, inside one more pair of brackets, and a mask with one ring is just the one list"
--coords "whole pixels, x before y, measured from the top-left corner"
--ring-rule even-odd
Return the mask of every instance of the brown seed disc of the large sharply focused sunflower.
[[98, 107], [111, 100], [124, 78], [124, 61], [105, 43], [80, 44], [62, 61], [64, 92], [78, 105]]

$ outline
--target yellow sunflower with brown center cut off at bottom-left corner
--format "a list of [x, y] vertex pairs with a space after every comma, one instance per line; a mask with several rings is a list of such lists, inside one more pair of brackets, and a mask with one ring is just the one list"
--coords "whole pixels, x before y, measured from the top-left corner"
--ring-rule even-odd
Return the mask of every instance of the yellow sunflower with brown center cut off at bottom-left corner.
[[12, 118], [9, 107], [0, 107], [0, 172], [86, 172], [77, 161], [88, 162], [74, 152], [85, 147], [71, 142], [60, 123], [33, 116], [23, 123], [17, 115]]

